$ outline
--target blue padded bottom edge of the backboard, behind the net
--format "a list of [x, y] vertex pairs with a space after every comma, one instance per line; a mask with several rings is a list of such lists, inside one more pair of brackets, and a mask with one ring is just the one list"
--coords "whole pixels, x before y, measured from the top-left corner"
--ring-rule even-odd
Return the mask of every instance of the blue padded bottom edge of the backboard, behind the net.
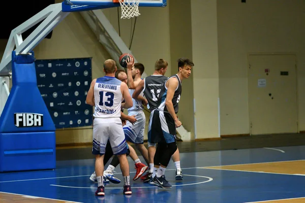
[[[66, 4], [118, 7], [118, 0], [66, 0]], [[165, 7], [166, 0], [140, 0], [139, 7]]]

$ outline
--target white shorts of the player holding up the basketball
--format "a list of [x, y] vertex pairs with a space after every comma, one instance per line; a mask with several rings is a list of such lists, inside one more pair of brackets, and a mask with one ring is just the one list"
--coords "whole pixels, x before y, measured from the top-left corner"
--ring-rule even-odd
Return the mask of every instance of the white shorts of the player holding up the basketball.
[[125, 133], [125, 139], [128, 142], [134, 144], [143, 144], [144, 142], [144, 129], [146, 124], [146, 118], [143, 111], [132, 111], [128, 113], [129, 116], [135, 115], [137, 121], [131, 124], [129, 121], [123, 127]]

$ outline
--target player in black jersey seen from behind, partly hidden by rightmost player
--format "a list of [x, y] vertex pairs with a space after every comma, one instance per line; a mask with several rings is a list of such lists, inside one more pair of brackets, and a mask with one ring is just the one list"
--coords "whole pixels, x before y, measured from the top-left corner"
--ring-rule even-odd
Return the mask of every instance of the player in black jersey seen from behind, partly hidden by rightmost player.
[[[142, 91], [148, 101], [147, 108], [149, 109], [149, 123], [148, 123], [148, 158], [149, 158], [149, 171], [142, 176], [144, 178], [144, 182], [151, 183], [153, 181], [153, 177], [156, 175], [158, 168], [154, 168], [154, 156], [156, 153], [156, 144], [152, 144], [151, 134], [155, 133], [154, 129], [151, 128], [151, 121], [153, 117], [153, 112], [157, 109], [157, 101], [160, 97], [160, 91], [168, 79], [168, 77], [164, 76], [167, 70], [168, 62], [163, 59], [158, 59], [155, 63], [155, 72], [153, 75], [147, 76], [144, 80], [142, 80], [137, 86], [136, 90], [133, 93], [133, 98], [136, 98]], [[176, 176], [175, 180], [183, 180], [182, 170], [180, 168], [180, 156], [179, 150], [173, 154], [172, 159], [176, 166]]]

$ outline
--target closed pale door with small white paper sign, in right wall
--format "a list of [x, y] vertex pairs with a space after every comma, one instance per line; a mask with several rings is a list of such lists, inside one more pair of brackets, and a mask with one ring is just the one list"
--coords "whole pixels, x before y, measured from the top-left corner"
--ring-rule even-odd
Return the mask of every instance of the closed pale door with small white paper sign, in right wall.
[[296, 133], [296, 56], [251, 54], [248, 60], [250, 133]]

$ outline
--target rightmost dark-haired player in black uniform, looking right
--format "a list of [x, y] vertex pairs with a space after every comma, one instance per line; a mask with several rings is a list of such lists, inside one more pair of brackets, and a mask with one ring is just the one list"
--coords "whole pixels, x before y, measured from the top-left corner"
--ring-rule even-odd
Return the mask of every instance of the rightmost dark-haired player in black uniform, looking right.
[[172, 187], [165, 179], [165, 170], [177, 150], [176, 127], [180, 127], [181, 122], [176, 114], [182, 92], [181, 81], [190, 77], [193, 66], [194, 63], [188, 58], [178, 59], [178, 73], [165, 81], [160, 92], [162, 96], [158, 99], [158, 109], [152, 116], [151, 129], [156, 133], [151, 133], [151, 142], [158, 143], [154, 164], [159, 168], [153, 181], [164, 189]]

